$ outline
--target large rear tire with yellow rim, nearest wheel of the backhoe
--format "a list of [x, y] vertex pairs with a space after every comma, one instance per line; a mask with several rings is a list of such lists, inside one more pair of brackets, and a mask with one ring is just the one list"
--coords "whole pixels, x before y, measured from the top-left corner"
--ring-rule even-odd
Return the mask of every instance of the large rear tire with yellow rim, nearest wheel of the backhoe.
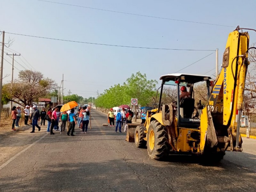
[[151, 159], [161, 160], [169, 155], [168, 134], [164, 125], [154, 120], [147, 134], [148, 155]]

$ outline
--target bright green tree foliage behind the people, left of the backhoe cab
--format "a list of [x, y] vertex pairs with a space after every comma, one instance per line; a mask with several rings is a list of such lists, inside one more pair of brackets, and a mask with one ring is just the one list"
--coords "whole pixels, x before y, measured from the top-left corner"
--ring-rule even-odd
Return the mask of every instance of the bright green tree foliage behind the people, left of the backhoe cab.
[[148, 106], [156, 96], [156, 80], [147, 80], [146, 74], [132, 74], [123, 85], [117, 84], [105, 90], [96, 100], [100, 108], [111, 108], [122, 104], [130, 105], [131, 98], [137, 98], [138, 104]]

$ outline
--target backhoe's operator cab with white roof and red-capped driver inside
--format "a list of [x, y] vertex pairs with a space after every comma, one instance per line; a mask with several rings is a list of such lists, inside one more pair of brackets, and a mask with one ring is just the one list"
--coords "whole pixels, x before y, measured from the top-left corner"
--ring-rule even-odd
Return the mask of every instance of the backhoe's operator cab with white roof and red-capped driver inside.
[[187, 128], [199, 127], [200, 111], [198, 111], [198, 108], [195, 107], [195, 101], [198, 103], [199, 100], [198, 98], [195, 98], [193, 88], [195, 84], [204, 86], [204, 82], [206, 82], [207, 100], [209, 100], [210, 79], [210, 76], [181, 73], [167, 74], [161, 76], [160, 80], [162, 80], [162, 85], [158, 110], [161, 110], [161, 107], [163, 105], [161, 99], [163, 96], [164, 87], [169, 85], [172, 87], [176, 86], [176, 100], [172, 101], [171, 105], [174, 109], [176, 109], [176, 117], [178, 119], [177, 126]]

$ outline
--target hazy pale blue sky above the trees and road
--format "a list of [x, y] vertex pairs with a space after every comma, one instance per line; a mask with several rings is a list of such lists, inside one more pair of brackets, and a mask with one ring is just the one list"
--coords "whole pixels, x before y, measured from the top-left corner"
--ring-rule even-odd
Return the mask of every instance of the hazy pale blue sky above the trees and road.
[[[219, 49], [219, 64], [228, 33], [237, 25], [256, 28], [256, 1], [171, 1], [171, 0], [52, 0], [119, 12], [205, 22], [234, 27], [198, 24], [135, 16], [116, 12], [53, 4], [37, 0], [1, 0], [0, 30], [33, 36], [125, 46], [172, 49]], [[243, 8], [241, 8], [243, 6]], [[250, 44], [256, 33], [249, 32]], [[159, 80], [164, 74], [205, 57], [211, 51], [174, 51], [80, 44], [6, 34], [13, 38], [11, 49], [19, 52], [45, 77], [58, 84], [64, 74], [64, 93], [83, 97], [96, 96], [114, 84], [123, 84], [132, 73], [146, 73], [148, 79]], [[0, 37], [2, 39], [2, 37]], [[12, 53], [5, 49], [5, 52]], [[12, 62], [8, 56], [6, 60]], [[26, 66], [22, 57], [15, 60]], [[21, 59], [21, 60], [20, 60]], [[25, 63], [27, 63], [25, 61]], [[16, 62], [14, 65], [22, 70]], [[215, 67], [215, 53], [182, 70], [205, 74]], [[18, 75], [14, 70], [14, 78]], [[214, 70], [207, 75], [214, 73]], [[4, 61], [4, 75], [11, 65]], [[10, 81], [11, 76], [4, 79]]]

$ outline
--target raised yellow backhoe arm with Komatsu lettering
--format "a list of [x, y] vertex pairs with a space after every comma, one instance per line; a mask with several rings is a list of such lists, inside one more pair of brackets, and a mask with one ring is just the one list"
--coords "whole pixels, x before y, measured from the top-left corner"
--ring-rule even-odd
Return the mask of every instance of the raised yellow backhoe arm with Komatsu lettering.
[[203, 109], [200, 126], [201, 150], [204, 150], [207, 138], [206, 145], [211, 148], [216, 146], [218, 150], [242, 151], [239, 129], [249, 64], [249, 34], [240, 33], [238, 29], [228, 35], [222, 70], [212, 87], [209, 102]]

